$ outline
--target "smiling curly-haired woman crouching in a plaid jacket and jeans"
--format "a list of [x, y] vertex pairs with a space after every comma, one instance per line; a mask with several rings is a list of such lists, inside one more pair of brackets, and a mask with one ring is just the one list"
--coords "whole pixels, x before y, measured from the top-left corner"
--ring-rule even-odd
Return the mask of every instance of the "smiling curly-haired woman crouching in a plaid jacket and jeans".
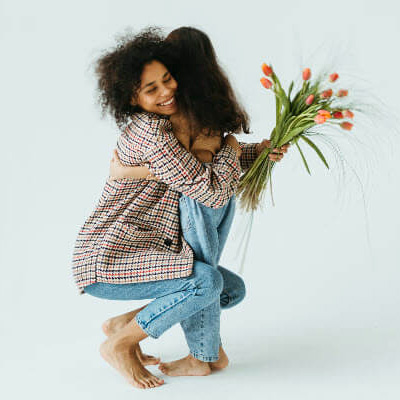
[[[139, 342], [147, 336], [158, 338], [177, 322], [192, 338], [194, 360], [218, 368], [219, 343], [198, 342], [196, 321], [201, 310], [219, 305], [224, 279], [213, 265], [193, 260], [192, 249], [181, 238], [179, 194], [211, 209], [225, 207], [241, 172], [238, 155], [246, 148], [228, 136], [212, 165], [207, 165], [179, 144], [172, 131], [182, 120], [177, 83], [165, 67], [164, 51], [162, 38], [150, 30], [124, 40], [98, 61], [103, 110], [124, 129], [117, 145], [119, 157], [126, 165], [148, 166], [158, 180], [108, 180], [96, 210], [79, 232], [73, 259], [81, 293], [119, 300], [155, 298], [106, 323], [109, 338], [101, 345], [106, 361], [141, 388], [163, 381], [144, 368], [157, 360], [144, 356]], [[187, 116], [190, 110], [189, 105]], [[237, 126], [245, 125], [244, 117], [236, 113]], [[202, 126], [195, 118], [190, 121], [196, 129]], [[255, 144], [251, 151], [256, 154]], [[204, 318], [219, 338], [216, 311], [204, 313]], [[190, 322], [193, 316], [197, 319]]]

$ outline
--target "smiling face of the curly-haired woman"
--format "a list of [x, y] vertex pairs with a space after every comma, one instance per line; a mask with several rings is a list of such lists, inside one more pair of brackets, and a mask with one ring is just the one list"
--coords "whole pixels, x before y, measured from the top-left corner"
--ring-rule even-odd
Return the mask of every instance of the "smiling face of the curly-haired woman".
[[178, 111], [175, 99], [177, 88], [178, 84], [165, 65], [151, 61], [143, 68], [140, 87], [131, 104], [156, 114], [175, 114]]

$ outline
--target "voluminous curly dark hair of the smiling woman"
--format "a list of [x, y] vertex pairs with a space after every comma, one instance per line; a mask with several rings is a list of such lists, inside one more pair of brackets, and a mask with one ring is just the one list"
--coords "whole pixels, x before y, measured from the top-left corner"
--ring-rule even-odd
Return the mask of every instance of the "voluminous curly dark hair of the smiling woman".
[[119, 37], [115, 48], [97, 60], [99, 103], [103, 115], [109, 113], [119, 128], [129, 122], [133, 113], [140, 111], [131, 100], [140, 87], [145, 65], [153, 60], [167, 65], [169, 57], [164, 39], [159, 28], [146, 28], [136, 35]]

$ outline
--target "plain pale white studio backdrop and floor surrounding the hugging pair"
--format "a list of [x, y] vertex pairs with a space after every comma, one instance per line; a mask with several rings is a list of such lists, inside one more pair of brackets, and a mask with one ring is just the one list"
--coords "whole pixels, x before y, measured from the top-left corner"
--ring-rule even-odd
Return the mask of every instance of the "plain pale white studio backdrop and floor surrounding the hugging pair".
[[[116, 34], [148, 25], [209, 34], [252, 118], [246, 141], [273, 126], [272, 95], [259, 84], [263, 61], [285, 84], [330, 62], [382, 103], [369, 128], [346, 133], [361, 143], [345, 147], [344, 181], [307, 152], [309, 177], [294, 149], [276, 169], [276, 206], [268, 198], [255, 215], [247, 298], [222, 316], [230, 367], [139, 392], [98, 346], [101, 322], [140, 302], [78, 296], [70, 264], [117, 134], [100, 118], [92, 63]], [[394, 0], [1, 0], [2, 398], [397, 399], [399, 39]], [[224, 254], [234, 270], [243, 220], [239, 213]], [[187, 353], [178, 327], [144, 348], [164, 360]]]

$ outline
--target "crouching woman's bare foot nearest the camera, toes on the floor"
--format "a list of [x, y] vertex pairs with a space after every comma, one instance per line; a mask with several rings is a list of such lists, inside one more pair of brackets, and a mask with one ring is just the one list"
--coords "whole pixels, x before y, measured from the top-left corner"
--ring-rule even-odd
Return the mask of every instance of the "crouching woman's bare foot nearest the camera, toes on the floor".
[[132, 344], [126, 341], [107, 339], [100, 346], [100, 354], [111, 366], [120, 372], [129, 383], [139, 389], [148, 389], [164, 383], [152, 375], [140, 363], [136, 352], [132, 351]]

